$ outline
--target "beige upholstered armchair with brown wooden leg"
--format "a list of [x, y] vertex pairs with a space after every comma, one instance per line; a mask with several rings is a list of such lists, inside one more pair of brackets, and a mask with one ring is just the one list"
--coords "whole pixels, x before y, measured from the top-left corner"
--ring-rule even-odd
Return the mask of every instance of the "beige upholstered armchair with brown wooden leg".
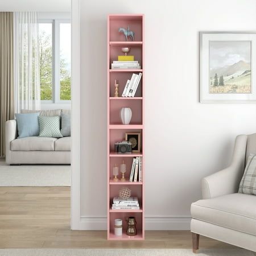
[[230, 166], [202, 179], [203, 200], [191, 205], [194, 253], [200, 235], [256, 251], [256, 196], [237, 193], [249, 154], [256, 134], [239, 135]]

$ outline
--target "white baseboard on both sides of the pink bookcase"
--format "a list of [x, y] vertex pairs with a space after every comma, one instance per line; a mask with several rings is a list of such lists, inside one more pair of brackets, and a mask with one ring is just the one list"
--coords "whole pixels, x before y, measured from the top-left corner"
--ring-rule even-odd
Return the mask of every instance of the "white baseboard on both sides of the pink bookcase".
[[[189, 216], [146, 216], [146, 230], [190, 230]], [[106, 216], [81, 216], [79, 230], [106, 230]]]

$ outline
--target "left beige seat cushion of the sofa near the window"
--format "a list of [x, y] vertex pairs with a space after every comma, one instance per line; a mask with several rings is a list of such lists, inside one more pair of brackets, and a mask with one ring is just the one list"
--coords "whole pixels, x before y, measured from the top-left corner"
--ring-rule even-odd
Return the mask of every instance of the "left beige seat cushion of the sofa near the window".
[[13, 151], [54, 151], [54, 142], [56, 138], [47, 137], [26, 137], [14, 139], [11, 142]]

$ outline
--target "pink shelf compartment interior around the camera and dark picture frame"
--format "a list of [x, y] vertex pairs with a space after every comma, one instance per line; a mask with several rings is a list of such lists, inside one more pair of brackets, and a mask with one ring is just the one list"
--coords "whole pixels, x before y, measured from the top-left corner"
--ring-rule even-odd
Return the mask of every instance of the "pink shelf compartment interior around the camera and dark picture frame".
[[116, 142], [119, 142], [119, 141], [124, 141], [125, 140], [125, 133], [126, 132], [140, 132], [141, 133], [141, 147], [140, 147], [140, 152], [138, 153], [134, 153], [134, 152], [131, 152], [128, 153], [128, 154], [118, 154], [118, 155], [121, 155], [121, 156], [131, 156], [131, 155], [137, 155], [139, 156], [140, 154], [142, 154], [142, 141], [143, 141], [143, 138], [142, 138], [142, 129], [111, 129], [109, 130], [109, 150], [110, 150], [110, 154], [113, 153], [116, 153], [114, 152], [114, 144]]

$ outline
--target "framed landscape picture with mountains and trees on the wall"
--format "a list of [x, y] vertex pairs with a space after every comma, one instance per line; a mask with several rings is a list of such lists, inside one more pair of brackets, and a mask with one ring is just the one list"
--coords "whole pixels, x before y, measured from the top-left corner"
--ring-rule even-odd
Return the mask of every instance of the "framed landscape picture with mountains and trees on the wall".
[[201, 32], [201, 102], [256, 102], [256, 32]]

